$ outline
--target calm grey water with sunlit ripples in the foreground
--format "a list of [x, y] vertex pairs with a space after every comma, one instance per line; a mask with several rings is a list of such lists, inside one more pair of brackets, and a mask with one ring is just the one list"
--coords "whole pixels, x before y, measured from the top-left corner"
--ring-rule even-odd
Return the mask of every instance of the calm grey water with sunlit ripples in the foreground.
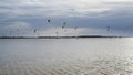
[[0, 39], [0, 75], [133, 75], [133, 39]]

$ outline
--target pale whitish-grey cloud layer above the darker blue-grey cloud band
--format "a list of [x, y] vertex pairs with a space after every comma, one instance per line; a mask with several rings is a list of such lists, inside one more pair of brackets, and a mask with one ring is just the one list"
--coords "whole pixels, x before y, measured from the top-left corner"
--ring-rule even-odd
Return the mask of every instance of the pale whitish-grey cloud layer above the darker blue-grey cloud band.
[[[1, 0], [0, 13], [17, 17], [106, 17], [133, 12], [132, 0]], [[29, 17], [28, 17], [29, 15]], [[3, 17], [7, 18], [6, 15]]]

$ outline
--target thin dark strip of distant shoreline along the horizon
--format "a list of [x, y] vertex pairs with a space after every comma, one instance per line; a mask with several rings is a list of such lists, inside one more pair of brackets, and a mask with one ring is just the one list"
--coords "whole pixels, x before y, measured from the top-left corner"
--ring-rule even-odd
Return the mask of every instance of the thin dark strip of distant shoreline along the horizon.
[[0, 39], [75, 39], [75, 38], [125, 38], [105, 35], [79, 35], [79, 36], [0, 36]]

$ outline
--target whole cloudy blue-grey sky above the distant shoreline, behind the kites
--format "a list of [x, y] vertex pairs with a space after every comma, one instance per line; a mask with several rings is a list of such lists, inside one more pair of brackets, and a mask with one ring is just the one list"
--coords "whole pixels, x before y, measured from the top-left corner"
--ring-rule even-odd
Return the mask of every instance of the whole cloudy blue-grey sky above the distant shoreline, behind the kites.
[[0, 36], [133, 36], [132, 29], [133, 0], [0, 0]]

